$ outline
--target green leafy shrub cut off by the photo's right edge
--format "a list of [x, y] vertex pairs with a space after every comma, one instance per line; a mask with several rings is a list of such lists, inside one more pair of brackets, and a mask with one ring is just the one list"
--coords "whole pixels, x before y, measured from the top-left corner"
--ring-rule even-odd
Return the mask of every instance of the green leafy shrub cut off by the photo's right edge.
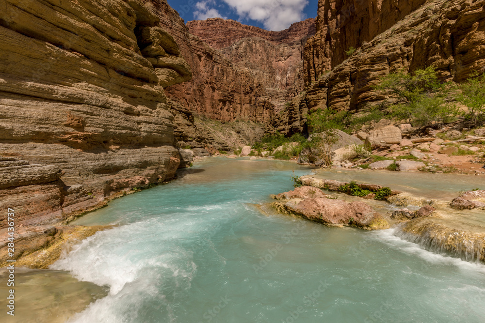
[[485, 74], [474, 72], [467, 82], [459, 85], [457, 100], [468, 107], [465, 121], [472, 127], [485, 124]]

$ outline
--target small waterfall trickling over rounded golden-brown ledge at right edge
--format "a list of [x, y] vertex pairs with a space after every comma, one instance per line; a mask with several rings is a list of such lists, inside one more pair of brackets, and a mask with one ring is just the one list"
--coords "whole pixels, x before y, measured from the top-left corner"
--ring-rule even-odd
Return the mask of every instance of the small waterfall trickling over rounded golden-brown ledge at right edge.
[[400, 239], [436, 254], [469, 262], [485, 262], [485, 235], [458, 231], [432, 221], [409, 221], [394, 231]]

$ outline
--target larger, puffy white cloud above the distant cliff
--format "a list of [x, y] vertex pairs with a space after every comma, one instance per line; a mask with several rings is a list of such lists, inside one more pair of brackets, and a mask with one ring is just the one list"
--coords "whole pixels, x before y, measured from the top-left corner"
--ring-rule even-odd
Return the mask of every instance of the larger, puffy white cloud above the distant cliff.
[[[211, 1], [211, 0], [209, 0]], [[263, 23], [272, 31], [281, 31], [293, 22], [304, 19], [303, 10], [308, 0], [223, 0], [236, 10], [241, 18]]]

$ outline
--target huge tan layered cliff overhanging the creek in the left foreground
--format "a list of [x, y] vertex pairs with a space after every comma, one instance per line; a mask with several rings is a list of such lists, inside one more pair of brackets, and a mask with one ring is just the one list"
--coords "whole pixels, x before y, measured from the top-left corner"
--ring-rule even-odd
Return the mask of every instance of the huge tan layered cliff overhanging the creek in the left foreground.
[[192, 72], [151, 8], [140, 0], [0, 7], [0, 196], [17, 224], [62, 222], [174, 176], [163, 88]]

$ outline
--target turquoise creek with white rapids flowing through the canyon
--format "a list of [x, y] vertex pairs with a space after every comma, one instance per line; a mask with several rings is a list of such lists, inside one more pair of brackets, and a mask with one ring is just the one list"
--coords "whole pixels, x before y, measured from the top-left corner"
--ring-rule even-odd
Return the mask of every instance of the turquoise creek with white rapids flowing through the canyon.
[[484, 265], [254, 205], [312, 171], [209, 158], [78, 219], [117, 226], [51, 266], [107, 288], [69, 322], [485, 322]]

